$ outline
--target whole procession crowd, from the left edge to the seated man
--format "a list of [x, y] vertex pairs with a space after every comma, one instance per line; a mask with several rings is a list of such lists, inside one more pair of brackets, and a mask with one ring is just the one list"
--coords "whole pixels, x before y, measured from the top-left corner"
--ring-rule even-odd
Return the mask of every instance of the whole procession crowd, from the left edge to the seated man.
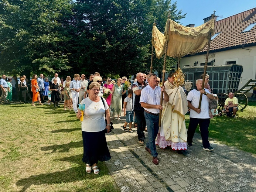
[[[210, 119], [219, 114], [218, 110], [209, 109], [209, 100], [218, 99], [218, 97], [212, 94], [208, 83], [209, 75], [206, 74], [204, 89], [202, 89], [202, 78], [203, 76], [196, 80], [196, 88], [186, 95], [181, 86], [174, 86], [171, 73], [163, 86], [159, 86], [160, 78], [154, 73], [148, 75], [137, 73], [132, 85], [125, 76], [118, 78], [115, 82], [111, 78], [102, 79], [98, 72], [91, 74], [89, 81], [86, 80], [84, 74], [81, 76], [74, 74], [73, 79], [67, 76], [64, 81], [64, 78], [59, 78], [58, 73], [55, 73], [51, 81], [43, 74], [39, 77], [34, 74], [31, 82], [26, 76], [21, 76], [18, 82], [17, 77], [13, 76], [6, 82], [4, 80], [6, 76], [3, 75], [0, 80], [3, 91], [1, 100], [4, 103], [12, 100], [26, 103], [30, 90], [32, 94], [29, 98], [32, 99], [32, 106], [35, 106], [34, 102], [37, 101], [40, 105], [47, 102], [45, 96], [48, 97], [48, 104], [52, 102], [54, 107], [59, 107], [59, 102], [64, 100], [64, 110], [73, 109], [78, 119], [84, 116], [82, 120], [84, 152], [82, 161], [86, 163], [86, 172], [93, 171], [94, 174], [98, 174], [98, 161], [107, 161], [111, 158], [105, 137], [105, 133], [110, 132], [110, 116], [115, 119], [117, 115], [117, 120], [120, 121], [122, 112], [126, 117], [123, 130], [133, 133], [133, 123], [134, 128], [137, 129], [139, 145], [144, 145], [144, 132], [147, 131], [148, 142], [145, 150], [152, 155], [152, 162], [156, 165], [158, 164], [156, 144], [160, 148], [171, 147], [179, 154], [186, 155], [188, 154], [187, 147], [193, 146], [193, 137], [198, 124], [203, 150], [214, 150], [208, 141], [208, 128]], [[163, 92], [162, 105], [160, 104], [161, 92]], [[201, 94], [202, 102], [199, 109]], [[230, 100], [226, 101], [227, 104], [225, 103], [225, 110], [222, 113], [232, 112], [235, 116], [238, 107], [232, 100], [233, 93], [229, 96]], [[80, 110], [78, 104], [84, 105], [84, 110]], [[159, 127], [160, 110], [162, 110], [162, 116]], [[188, 111], [190, 123], [187, 130], [185, 114]]]

